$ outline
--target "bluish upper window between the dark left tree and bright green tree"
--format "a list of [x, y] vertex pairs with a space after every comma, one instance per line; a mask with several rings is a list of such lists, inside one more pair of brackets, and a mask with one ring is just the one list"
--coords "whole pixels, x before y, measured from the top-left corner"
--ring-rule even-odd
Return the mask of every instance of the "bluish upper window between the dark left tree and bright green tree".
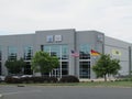
[[33, 57], [33, 47], [32, 46], [25, 46], [24, 47], [24, 59], [30, 61]]

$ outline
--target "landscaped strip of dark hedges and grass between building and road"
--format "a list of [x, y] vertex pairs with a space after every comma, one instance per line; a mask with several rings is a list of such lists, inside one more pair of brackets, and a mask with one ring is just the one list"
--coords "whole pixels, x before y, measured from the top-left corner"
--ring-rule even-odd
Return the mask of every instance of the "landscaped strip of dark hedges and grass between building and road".
[[132, 88], [132, 78], [120, 78], [110, 79], [105, 81], [103, 79], [78, 79], [75, 76], [66, 76], [62, 79], [55, 77], [24, 77], [24, 78], [12, 78], [7, 77], [0, 86], [13, 85], [18, 87], [25, 86], [82, 86], [82, 87], [129, 87]]

